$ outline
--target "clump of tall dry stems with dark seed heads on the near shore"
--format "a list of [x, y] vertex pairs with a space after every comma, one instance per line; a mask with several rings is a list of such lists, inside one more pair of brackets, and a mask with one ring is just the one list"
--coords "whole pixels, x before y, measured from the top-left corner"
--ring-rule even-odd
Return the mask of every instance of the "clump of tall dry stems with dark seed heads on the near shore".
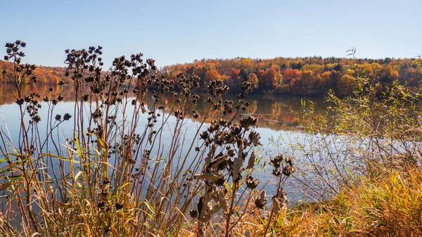
[[[248, 205], [256, 195], [243, 187], [246, 183], [241, 176], [252, 174], [250, 167], [250, 171], [245, 172], [242, 166], [250, 157], [252, 146], [260, 144], [259, 134], [254, 135], [255, 131], [250, 130], [257, 122], [255, 118], [241, 118], [240, 124], [236, 122], [239, 112], [248, 106], [245, 93], [238, 95], [235, 110], [233, 101], [222, 99], [228, 87], [221, 80], [212, 80], [207, 87], [209, 105], [201, 115], [203, 117], [196, 120], [196, 132], [188, 134], [185, 129], [188, 120], [191, 116], [199, 117], [194, 109], [200, 96], [193, 94], [200, 86], [199, 77], [178, 75], [176, 82], [159, 77], [155, 74], [154, 61], [148, 59], [145, 63], [141, 54], [115, 58], [113, 66], [103, 72], [100, 46], [67, 50], [66, 53], [68, 69], [65, 75], [72, 80], [69, 91], [74, 94], [75, 104], [72, 108], [74, 124], [71, 125], [74, 132], [68, 134], [72, 139], [66, 140], [65, 146], [60, 142], [60, 129], [71, 115], [53, 116], [63, 96], [44, 98], [46, 103], [43, 105], [48, 105], [47, 129], [45, 132], [39, 130], [37, 124], [41, 119], [36, 116], [38, 109], [34, 108], [39, 104], [39, 96], [24, 97], [23, 78], [17, 72], [20, 61], [15, 61], [18, 64], [15, 65], [16, 103], [20, 105], [22, 120], [19, 144], [15, 147], [18, 155], [8, 150], [7, 141], [12, 140], [4, 136], [4, 132], [0, 137], [4, 144], [1, 152], [11, 162], [8, 174], [22, 175], [15, 183], [7, 184], [18, 186], [11, 190], [8, 207], [19, 212], [16, 219], [21, 220], [21, 234], [27, 236], [38, 231], [45, 236], [179, 235], [186, 231], [189, 208], [199, 194], [209, 192], [210, 188], [215, 192], [207, 193], [208, 197], [215, 198], [210, 201], [219, 202], [219, 205], [226, 202], [224, 210], [228, 207], [228, 211], [225, 213], [222, 207], [207, 209], [210, 213], [206, 214], [211, 217], [206, 217], [210, 219], [205, 220], [203, 226], [208, 229], [198, 230], [198, 234], [205, 231], [217, 235], [217, 232], [225, 231], [229, 236], [234, 232], [245, 213], [253, 210]], [[136, 83], [135, 87], [132, 82]], [[243, 86], [245, 91], [250, 88], [246, 82]], [[132, 88], [133, 98], [129, 96]], [[146, 94], [148, 89], [152, 90], [151, 94]], [[151, 103], [148, 101], [150, 95]], [[168, 103], [170, 100], [173, 102]], [[224, 115], [220, 116], [222, 108]], [[158, 118], [160, 115], [162, 117]], [[28, 116], [29, 126], [23, 121]], [[148, 120], [145, 127], [139, 127], [143, 116], [148, 116]], [[204, 130], [213, 117], [217, 120], [212, 120], [210, 127]], [[171, 123], [173, 119], [174, 124]], [[168, 143], [165, 129], [172, 136]], [[208, 131], [206, 138], [204, 131]], [[191, 135], [193, 140], [188, 141]], [[198, 137], [204, 141], [200, 142]], [[198, 147], [193, 153], [195, 144]], [[219, 152], [231, 156], [221, 156]], [[218, 187], [210, 180], [193, 180], [200, 172], [212, 174], [207, 169], [215, 169], [212, 162], [222, 158], [226, 159], [226, 165], [212, 171], [219, 175]], [[227, 180], [232, 185], [229, 190], [224, 189], [229, 185]], [[252, 188], [256, 185], [252, 184]], [[237, 193], [241, 188], [243, 191]], [[217, 201], [217, 197], [222, 199]], [[234, 214], [239, 217], [231, 223]], [[222, 226], [221, 231], [212, 226], [212, 215], [222, 217], [217, 223]], [[8, 211], [6, 217], [13, 219], [14, 215]], [[0, 225], [0, 230], [7, 228]]]

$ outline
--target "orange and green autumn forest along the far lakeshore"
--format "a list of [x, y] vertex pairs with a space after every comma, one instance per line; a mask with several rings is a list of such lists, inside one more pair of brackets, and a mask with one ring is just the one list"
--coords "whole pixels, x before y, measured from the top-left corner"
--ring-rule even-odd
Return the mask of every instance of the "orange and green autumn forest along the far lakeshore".
[[[159, 75], [176, 82], [177, 75], [198, 75], [201, 86], [213, 79], [222, 79], [231, 92], [241, 91], [242, 82], [252, 83], [255, 92], [324, 95], [329, 90], [338, 96], [352, 93], [357, 77], [369, 79], [381, 93], [392, 82], [405, 87], [421, 87], [420, 58], [272, 58], [272, 59], [203, 59], [193, 63], [169, 65], [160, 68]], [[12, 63], [0, 60], [0, 72], [11, 72]], [[41, 84], [69, 83], [65, 68], [39, 66], [35, 70]], [[0, 74], [0, 82], [12, 82], [13, 75]], [[201, 87], [204, 88], [204, 87]]]

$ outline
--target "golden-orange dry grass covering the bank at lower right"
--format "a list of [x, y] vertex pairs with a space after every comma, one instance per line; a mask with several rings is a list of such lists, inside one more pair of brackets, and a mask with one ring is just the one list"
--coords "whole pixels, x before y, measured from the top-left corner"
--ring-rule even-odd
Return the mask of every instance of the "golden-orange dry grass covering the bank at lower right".
[[[385, 170], [324, 203], [287, 210], [267, 236], [422, 236], [421, 196], [420, 170]], [[250, 215], [237, 236], [262, 236], [266, 224], [266, 219]]]

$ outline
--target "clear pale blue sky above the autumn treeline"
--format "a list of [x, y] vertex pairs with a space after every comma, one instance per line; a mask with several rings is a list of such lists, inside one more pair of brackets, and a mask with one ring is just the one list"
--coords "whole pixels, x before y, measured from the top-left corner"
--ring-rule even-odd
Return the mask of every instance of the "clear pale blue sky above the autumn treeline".
[[[201, 58], [422, 54], [422, 1], [4, 1], [0, 43], [27, 42], [25, 61], [63, 66], [65, 49], [103, 59], [142, 52], [157, 65]], [[4, 53], [1, 53], [3, 55]], [[2, 58], [2, 57], [1, 57]]]

